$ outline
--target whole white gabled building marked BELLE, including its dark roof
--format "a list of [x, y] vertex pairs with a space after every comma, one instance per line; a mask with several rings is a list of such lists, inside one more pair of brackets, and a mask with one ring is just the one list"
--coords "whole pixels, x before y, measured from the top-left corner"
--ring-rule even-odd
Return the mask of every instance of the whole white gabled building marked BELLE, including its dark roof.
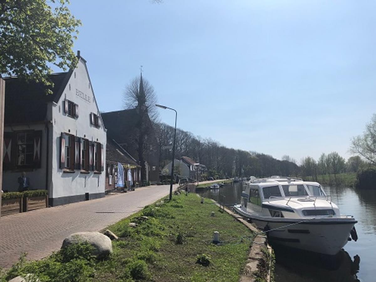
[[41, 83], [5, 79], [3, 190], [17, 191], [22, 171], [29, 190], [47, 189], [50, 206], [105, 195], [106, 129], [86, 61]]

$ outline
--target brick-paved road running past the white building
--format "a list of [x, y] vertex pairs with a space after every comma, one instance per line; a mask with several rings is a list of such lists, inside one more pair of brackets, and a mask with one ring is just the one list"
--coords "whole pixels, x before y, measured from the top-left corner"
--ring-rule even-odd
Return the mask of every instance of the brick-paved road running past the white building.
[[1, 217], [0, 267], [11, 267], [23, 252], [27, 252], [27, 259], [44, 258], [59, 250], [71, 233], [99, 231], [168, 195], [169, 188], [141, 187], [96, 200]]

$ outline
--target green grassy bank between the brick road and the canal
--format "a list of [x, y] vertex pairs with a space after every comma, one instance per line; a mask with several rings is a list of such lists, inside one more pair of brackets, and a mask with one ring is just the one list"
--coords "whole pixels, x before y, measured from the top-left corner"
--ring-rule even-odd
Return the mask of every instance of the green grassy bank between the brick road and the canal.
[[[113, 241], [114, 252], [106, 260], [78, 245], [41, 261], [21, 260], [0, 281], [26, 273], [41, 281], [238, 281], [253, 238], [211, 200], [200, 204], [196, 194], [147, 206], [109, 229], [120, 240]], [[212, 244], [215, 230], [222, 244]]]

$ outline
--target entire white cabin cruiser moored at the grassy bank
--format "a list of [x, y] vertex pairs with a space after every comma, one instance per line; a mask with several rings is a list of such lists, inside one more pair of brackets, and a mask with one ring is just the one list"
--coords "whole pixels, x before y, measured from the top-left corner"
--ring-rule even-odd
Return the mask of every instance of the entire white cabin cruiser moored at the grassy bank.
[[267, 232], [275, 244], [325, 255], [337, 254], [350, 235], [352, 215], [341, 215], [321, 185], [290, 177], [251, 178], [234, 210]]

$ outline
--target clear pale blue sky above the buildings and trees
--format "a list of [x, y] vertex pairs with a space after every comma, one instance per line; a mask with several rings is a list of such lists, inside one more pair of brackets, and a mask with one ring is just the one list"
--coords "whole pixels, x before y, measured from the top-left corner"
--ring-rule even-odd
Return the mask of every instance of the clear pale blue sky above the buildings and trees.
[[[101, 111], [139, 75], [178, 127], [227, 147], [348, 158], [376, 112], [376, 2], [71, 0]], [[174, 112], [160, 110], [173, 125]]]

